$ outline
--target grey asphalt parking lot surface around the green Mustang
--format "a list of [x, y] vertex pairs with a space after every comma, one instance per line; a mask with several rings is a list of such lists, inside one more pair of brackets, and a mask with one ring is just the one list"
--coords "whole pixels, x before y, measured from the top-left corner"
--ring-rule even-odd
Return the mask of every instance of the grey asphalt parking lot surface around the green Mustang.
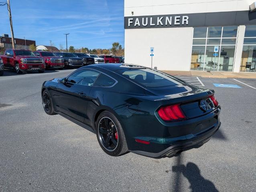
[[256, 79], [198, 78], [215, 90], [221, 128], [201, 148], [154, 159], [108, 156], [95, 134], [45, 114], [42, 83], [72, 71], [0, 77], [0, 103], [11, 105], [0, 108], [0, 191], [256, 191]]

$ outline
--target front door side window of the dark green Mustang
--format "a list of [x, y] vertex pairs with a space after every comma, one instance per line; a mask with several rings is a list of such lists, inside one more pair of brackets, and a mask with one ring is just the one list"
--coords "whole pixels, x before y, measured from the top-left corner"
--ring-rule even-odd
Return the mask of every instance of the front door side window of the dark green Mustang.
[[99, 74], [99, 72], [93, 70], [79, 70], [71, 74], [71, 76], [67, 78], [67, 82], [85, 86], [92, 86]]

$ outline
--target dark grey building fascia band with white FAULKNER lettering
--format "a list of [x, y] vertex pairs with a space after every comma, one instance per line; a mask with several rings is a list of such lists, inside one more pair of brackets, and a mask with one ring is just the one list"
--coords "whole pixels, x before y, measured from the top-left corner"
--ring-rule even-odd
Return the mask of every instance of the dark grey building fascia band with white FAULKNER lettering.
[[125, 29], [256, 24], [256, 12], [230, 11], [124, 17]]

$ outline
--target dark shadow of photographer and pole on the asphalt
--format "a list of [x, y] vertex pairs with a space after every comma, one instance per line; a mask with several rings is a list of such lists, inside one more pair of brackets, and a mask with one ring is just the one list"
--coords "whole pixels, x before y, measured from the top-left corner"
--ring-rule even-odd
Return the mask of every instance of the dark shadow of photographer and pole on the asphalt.
[[188, 162], [187, 165], [181, 164], [182, 154], [176, 157], [176, 165], [172, 167], [175, 174], [171, 191], [181, 192], [182, 175], [187, 178], [190, 183], [191, 192], [219, 192], [213, 182], [205, 179], [200, 172], [198, 166], [193, 162]]

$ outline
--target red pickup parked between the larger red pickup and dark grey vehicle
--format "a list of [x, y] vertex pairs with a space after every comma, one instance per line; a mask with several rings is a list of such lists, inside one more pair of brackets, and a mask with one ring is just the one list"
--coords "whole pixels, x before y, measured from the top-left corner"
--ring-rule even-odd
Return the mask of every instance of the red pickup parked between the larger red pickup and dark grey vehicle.
[[45, 59], [46, 68], [59, 68], [62, 70], [64, 68], [64, 59], [61, 57], [56, 57], [52, 52], [48, 51], [34, 51], [36, 56], [43, 57]]

